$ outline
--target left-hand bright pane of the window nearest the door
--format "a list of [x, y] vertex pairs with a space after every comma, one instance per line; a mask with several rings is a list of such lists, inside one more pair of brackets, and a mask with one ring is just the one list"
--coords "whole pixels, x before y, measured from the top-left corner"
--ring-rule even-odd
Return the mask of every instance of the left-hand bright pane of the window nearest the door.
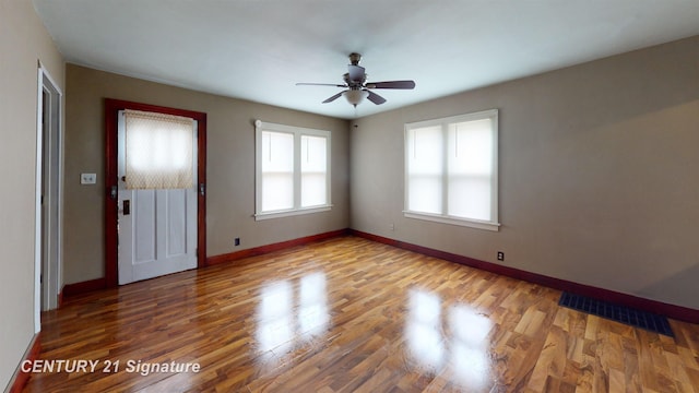
[[294, 134], [262, 131], [262, 211], [294, 207]]

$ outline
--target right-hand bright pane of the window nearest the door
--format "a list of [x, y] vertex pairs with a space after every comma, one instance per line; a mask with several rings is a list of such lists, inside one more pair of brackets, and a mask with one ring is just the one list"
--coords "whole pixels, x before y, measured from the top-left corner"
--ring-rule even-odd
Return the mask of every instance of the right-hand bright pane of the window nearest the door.
[[301, 207], [328, 203], [328, 139], [301, 135]]

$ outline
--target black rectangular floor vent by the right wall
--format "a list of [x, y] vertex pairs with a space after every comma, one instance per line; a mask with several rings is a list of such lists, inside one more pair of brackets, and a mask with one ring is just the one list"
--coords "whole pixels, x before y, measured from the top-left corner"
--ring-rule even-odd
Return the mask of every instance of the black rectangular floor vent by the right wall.
[[558, 305], [666, 336], [675, 336], [667, 318], [654, 313], [569, 293], [560, 296]]

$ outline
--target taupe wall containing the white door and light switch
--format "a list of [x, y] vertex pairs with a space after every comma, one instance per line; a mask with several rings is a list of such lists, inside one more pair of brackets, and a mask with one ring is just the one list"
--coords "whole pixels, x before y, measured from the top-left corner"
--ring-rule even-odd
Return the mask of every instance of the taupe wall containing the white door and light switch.
[[[208, 255], [346, 228], [350, 225], [348, 123], [317, 115], [67, 66], [64, 281], [104, 276], [104, 98], [197, 110], [208, 115]], [[332, 132], [331, 212], [256, 222], [254, 126], [266, 122]], [[96, 186], [81, 186], [96, 172]], [[241, 245], [234, 247], [234, 238]]]

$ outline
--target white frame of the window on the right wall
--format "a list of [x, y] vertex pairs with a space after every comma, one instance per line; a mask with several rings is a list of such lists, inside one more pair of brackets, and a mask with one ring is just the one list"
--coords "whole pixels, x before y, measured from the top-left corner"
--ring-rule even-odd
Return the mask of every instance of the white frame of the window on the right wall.
[[[442, 135], [445, 141], [442, 150], [446, 151], [447, 144], [448, 144], [447, 130], [449, 128], [449, 124], [483, 120], [483, 119], [491, 119], [493, 121], [493, 162], [491, 162], [493, 176], [490, 178], [490, 191], [491, 191], [490, 192], [490, 221], [464, 218], [464, 217], [457, 217], [457, 216], [449, 215], [446, 213], [448, 211], [447, 210], [448, 207], [446, 205], [442, 206], [441, 214], [425, 213], [425, 212], [408, 210], [408, 206], [410, 206], [408, 139], [411, 138], [410, 131], [413, 129], [440, 126], [442, 129]], [[405, 204], [404, 206], [405, 206], [405, 210], [403, 211], [403, 215], [405, 217], [425, 219], [425, 221], [437, 222], [442, 224], [459, 225], [459, 226], [465, 226], [471, 228], [486, 229], [486, 230], [493, 230], [493, 231], [499, 230], [500, 223], [498, 219], [498, 109], [489, 109], [489, 110], [483, 110], [483, 111], [473, 112], [473, 114], [451, 116], [447, 118], [406, 123], [404, 138], [405, 138], [404, 139], [404, 144], [405, 144], [405, 153], [404, 153], [405, 154], [405, 163], [404, 163], [405, 165], [404, 167], [405, 168], [404, 169], [404, 175], [405, 175], [404, 203]], [[448, 175], [449, 174], [447, 171], [447, 165], [443, 165], [442, 172], [441, 172], [442, 195], [448, 194], [448, 188], [449, 188]]]

